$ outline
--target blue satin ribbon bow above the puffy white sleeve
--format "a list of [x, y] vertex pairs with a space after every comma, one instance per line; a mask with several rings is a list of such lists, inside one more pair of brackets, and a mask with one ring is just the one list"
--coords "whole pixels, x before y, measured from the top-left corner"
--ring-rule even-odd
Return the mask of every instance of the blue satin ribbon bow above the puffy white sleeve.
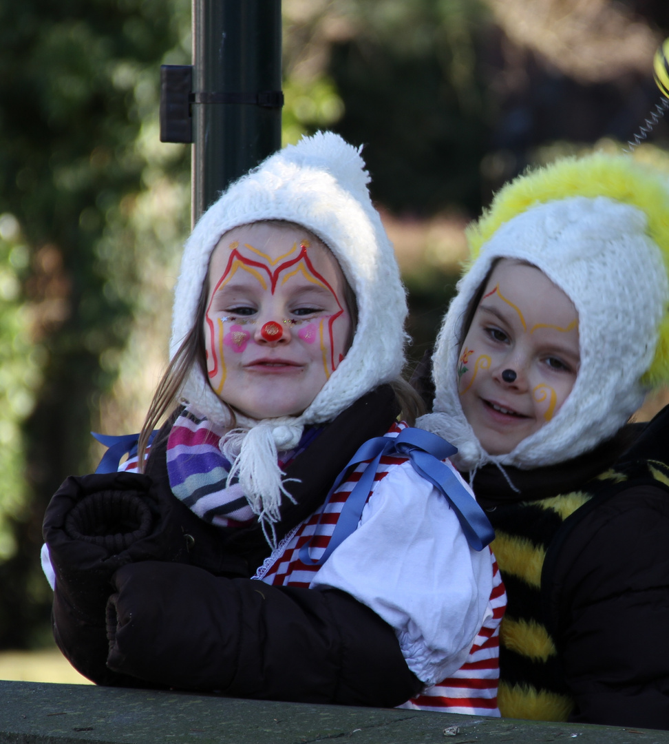
[[[482, 551], [494, 538], [495, 533], [488, 517], [485, 516], [479, 504], [476, 504], [471, 493], [462, 485], [450, 467], [442, 462], [450, 455], [455, 455], [456, 452], [457, 449], [445, 439], [431, 432], [424, 432], [422, 429], [407, 428], [403, 429], [397, 437], [375, 437], [366, 441], [337, 476], [335, 485], [326, 498], [321, 516], [330, 498], [332, 498], [332, 494], [335, 493], [337, 487], [343, 481], [349, 467], [366, 460], [371, 461], [361, 474], [358, 483], [355, 484], [349, 498], [344, 502], [326, 551], [320, 559], [314, 560], [311, 558], [309, 550], [311, 541], [316, 537], [314, 534], [306, 545], [300, 548], [300, 560], [305, 565], [322, 565], [332, 554], [332, 551], [356, 530], [369, 491], [372, 489], [378, 464], [384, 455], [408, 457], [418, 475], [430, 481], [444, 494], [448, 504], [459, 519], [470, 547], [474, 548], [475, 551]], [[320, 519], [318, 525], [320, 525]]]

